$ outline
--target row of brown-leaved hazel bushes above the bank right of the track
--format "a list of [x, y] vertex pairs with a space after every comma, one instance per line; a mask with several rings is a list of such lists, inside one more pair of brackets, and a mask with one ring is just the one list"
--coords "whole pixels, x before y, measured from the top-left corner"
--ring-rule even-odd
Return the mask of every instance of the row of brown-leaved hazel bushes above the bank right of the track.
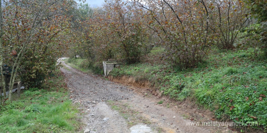
[[[240, 31], [253, 25], [242, 1], [140, 1], [109, 0], [103, 10], [78, 8], [87, 15], [74, 29], [77, 45], [71, 57], [88, 58], [101, 67], [109, 58], [135, 63], [153, 46], [166, 48], [167, 63], [192, 68], [201, 63], [212, 45], [234, 48]], [[86, 17], [85, 17], [86, 18]], [[78, 35], [79, 34], [79, 35]], [[238, 45], [239, 46], [239, 45]], [[149, 48], [149, 49], [147, 49]]]

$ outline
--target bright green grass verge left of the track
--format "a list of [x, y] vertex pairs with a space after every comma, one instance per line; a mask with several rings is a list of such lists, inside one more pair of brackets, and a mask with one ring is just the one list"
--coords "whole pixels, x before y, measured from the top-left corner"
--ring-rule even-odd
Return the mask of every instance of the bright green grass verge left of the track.
[[79, 132], [77, 107], [68, 98], [63, 76], [50, 77], [42, 89], [25, 90], [1, 107], [0, 132]]

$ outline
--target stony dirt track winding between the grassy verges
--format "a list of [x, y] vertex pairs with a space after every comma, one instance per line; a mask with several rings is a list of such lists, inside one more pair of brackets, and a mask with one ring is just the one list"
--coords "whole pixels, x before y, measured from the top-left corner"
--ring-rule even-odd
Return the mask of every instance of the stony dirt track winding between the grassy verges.
[[[227, 127], [191, 126], [194, 122], [179, 107], [157, 104], [156, 96], [141, 96], [133, 87], [85, 74], [66, 63], [60, 70], [66, 77], [70, 98], [80, 105], [83, 131], [90, 133], [215, 133], [232, 132]], [[177, 110], [177, 111], [176, 111]], [[82, 132], [83, 132], [82, 131]]]

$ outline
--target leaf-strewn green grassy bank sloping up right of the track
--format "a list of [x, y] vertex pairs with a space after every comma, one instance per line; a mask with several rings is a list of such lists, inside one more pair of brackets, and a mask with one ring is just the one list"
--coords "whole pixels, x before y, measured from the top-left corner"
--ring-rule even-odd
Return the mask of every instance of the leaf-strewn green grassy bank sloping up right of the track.
[[[158, 52], [155, 55], [164, 53], [155, 51]], [[259, 55], [255, 48], [224, 51], [214, 48], [197, 68], [181, 70], [163, 63], [140, 62], [115, 68], [110, 75], [147, 80], [173, 99], [195, 100], [214, 111], [218, 119], [258, 122], [257, 127], [246, 127], [247, 130], [267, 131], [267, 98], [262, 97], [267, 96], [267, 61]]]

